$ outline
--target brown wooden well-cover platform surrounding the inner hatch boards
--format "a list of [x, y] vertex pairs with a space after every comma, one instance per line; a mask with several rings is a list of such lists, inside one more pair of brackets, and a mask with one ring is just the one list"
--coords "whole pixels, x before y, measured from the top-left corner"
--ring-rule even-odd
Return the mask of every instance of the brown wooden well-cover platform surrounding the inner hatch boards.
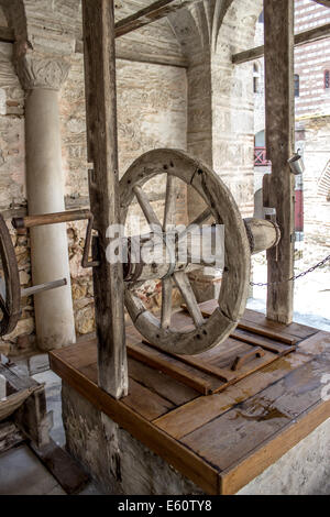
[[[265, 332], [292, 337], [297, 351], [215, 395], [200, 396], [130, 358], [130, 394], [114, 400], [97, 386], [92, 339], [52, 352], [51, 364], [81, 397], [205, 492], [233, 494], [330, 417], [330, 403], [322, 399], [330, 334], [272, 323], [253, 311], [244, 316], [251, 328], [254, 320]], [[178, 318], [182, 326], [191, 321], [184, 312]], [[136, 345], [134, 327], [127, 330]]]

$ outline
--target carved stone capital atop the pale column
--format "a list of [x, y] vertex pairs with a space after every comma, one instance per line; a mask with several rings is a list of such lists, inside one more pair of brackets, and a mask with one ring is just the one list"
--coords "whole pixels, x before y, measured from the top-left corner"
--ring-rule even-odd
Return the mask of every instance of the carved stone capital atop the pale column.
[[59, 90], [68, 76], [70, 64], [65, 59], [26, 52], [16, 56], [15, 68], [24, 90]]

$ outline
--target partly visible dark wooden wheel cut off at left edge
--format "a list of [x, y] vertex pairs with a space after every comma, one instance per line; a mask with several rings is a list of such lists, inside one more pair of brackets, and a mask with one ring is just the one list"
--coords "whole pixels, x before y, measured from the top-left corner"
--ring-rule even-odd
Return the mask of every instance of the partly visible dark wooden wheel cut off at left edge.
[[21, 315], [18, 262], [10, 233], [0, 215], [0, 336], [12, 332]]

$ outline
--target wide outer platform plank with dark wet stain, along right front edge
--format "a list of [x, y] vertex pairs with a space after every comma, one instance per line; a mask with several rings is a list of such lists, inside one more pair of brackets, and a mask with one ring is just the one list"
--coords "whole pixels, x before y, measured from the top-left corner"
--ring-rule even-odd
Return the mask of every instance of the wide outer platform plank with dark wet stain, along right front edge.
[[[241, 462], [321, 400], [330, 363], [314, 359], [254, 397], [184, 437], [182, 443], [223, 471]], [[330, 404], [328, 404], [328, 417]], [[243, 438], [243, 439], [242, 439]]]

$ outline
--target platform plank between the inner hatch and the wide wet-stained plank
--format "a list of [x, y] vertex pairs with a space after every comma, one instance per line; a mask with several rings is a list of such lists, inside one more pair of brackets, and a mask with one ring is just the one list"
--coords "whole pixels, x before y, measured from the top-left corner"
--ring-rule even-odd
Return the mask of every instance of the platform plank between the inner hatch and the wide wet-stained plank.
[[224, 392], [208, 397], [199, 397], [154, 420], [154, 424], [173, 438], [180, 439], [228, 411], [237, 404], [241, 404], [265, 389], [270, 384], [285, 377], [290, 371], [310, 360], [311, 358], [298, 353], [282, 358], [275, 363], [264, 366], [252, 376], [227, 387]]

